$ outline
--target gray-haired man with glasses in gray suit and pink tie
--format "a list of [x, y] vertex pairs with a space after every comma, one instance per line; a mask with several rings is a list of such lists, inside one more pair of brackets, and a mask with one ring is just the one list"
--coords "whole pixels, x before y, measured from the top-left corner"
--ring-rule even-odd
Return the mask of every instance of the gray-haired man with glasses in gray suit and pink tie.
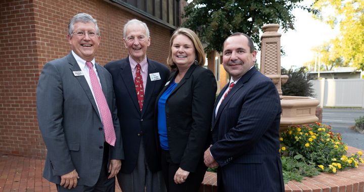
[[36, 90], [43, 177], [58, 191], [114, 191], [124, 153], [112, 78], [95, 63], [97, 21], [75, 15], [67, 38], [71, 53], [44, 65]]

